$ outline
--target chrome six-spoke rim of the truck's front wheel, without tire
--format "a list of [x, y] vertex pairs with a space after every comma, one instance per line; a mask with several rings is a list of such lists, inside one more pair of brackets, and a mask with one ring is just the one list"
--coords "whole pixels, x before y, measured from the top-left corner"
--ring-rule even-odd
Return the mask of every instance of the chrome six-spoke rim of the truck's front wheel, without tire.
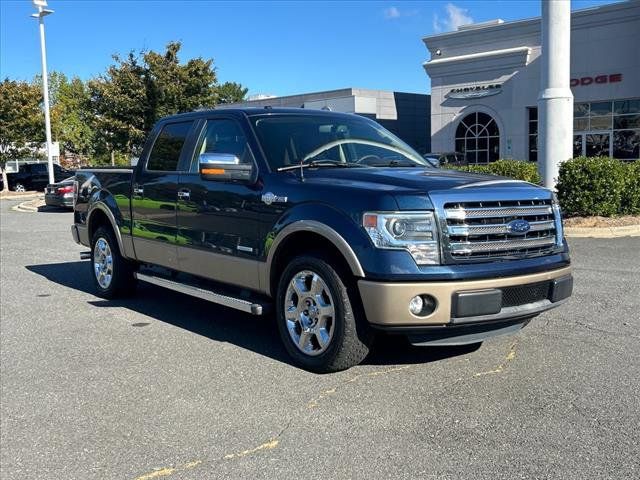
[[306, 355], [319, 355], [331, 343], [335, 308], [329, 288], [315, 272], [296, 273], [284, 298], [287, 330], [298, 349]]

